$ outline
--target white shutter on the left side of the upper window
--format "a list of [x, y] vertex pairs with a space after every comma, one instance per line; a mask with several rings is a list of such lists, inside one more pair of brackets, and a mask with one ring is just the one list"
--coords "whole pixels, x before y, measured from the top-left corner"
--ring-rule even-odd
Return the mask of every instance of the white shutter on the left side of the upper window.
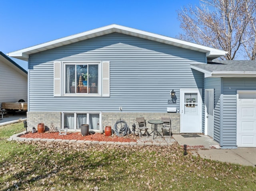
[[61, 96], [61, 62], [54, 62], [54, 97]]

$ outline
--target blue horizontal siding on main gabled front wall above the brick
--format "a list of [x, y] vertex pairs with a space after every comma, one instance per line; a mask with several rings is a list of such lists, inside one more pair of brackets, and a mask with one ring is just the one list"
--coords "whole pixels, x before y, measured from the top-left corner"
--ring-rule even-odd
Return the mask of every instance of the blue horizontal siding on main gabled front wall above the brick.
[[[112, 33], [30, 55], [30, 111], [166, 112], [180, 108], [180, 89], [204, 85], [190, 68], [205, 54], [120, 33]], [[110, 97], [54, 97], [54, 61], [110, 61]], [[174, 89], [177, 103], [168, 105]]]

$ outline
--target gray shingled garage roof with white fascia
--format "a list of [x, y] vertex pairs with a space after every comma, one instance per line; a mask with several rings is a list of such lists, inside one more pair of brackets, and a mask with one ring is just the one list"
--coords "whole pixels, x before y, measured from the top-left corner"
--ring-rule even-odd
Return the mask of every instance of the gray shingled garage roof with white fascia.
[[204, 73], [204, 77], [256, 77], [256, 60], [222, 60], [190, 67]]

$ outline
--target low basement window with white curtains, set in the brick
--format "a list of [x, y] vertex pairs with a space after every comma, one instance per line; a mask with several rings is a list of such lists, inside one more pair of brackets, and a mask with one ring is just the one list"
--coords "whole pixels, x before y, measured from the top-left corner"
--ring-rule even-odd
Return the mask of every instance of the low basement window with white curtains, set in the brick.
[[100, 130], [99, 113], [63, 113], [62, 116], [64, 128], [77, 130], [82, 124], [89, 124], [90, 130]]

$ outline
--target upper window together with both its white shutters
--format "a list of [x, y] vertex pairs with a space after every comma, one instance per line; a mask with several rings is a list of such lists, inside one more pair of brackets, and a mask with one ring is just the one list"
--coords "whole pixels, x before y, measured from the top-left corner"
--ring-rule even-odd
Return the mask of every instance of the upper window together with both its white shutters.
[[110, 62], [54, 61], [54, 97], [110, 96]]

